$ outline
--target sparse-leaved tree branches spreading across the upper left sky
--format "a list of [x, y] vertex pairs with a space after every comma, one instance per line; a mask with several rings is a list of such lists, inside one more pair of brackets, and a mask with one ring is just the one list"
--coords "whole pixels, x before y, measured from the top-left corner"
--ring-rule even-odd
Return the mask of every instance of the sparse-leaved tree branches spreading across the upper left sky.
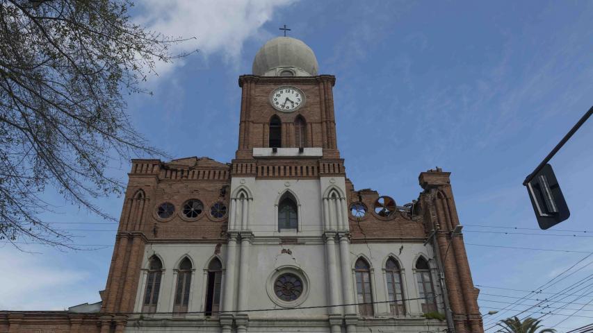
[[122, 92], [168, 62], [184, 42], [130, 21], [127, 0], [0, 0], [0, 239], [67, 246], [40, 219], [47, 185], [113, 219], [93, 198], [119, 194], [115, 158], [163, 155], [133, 130]]

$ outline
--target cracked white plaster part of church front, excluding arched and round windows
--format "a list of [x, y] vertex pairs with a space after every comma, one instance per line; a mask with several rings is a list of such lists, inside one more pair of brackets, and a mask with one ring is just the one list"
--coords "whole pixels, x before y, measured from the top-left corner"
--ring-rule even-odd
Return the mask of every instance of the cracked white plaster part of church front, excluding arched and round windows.
[[[163, 278], [157, 312], [171, 312], [177, 281], [176, 267], [184, 257], [193, 264], [187, 314], [144, 315], [140, 327], [159, 332], [437, 332], [444, 322], [428, 321], [421, 315], [414, 263], [434, 254], [430, 244], [350, 244], [344, 178], [316, 180], [265, 180], [233, 178], [229, 214], [229, 244], [150, 244], [145, 248], [144, 267], [157, 255], [163, 263]], [[298, 230], [279, 230], [278, 200], [290, 191], [298, 204]], [[336, 193], [333, 196], [333, 193]], [[294, 239], [282, 244], [282, 239]], [[218, 250], [217, 250], [218, 248]], [[392, 316], [387, 301], [385, 262], [389, 257], [402, 268], [406, 315]], [[205, 317], [206, 278], [209, 262], [222, 262], [223, 311]], [[364, 257], [371, 265], [374, 316], [358, 315], [355, 262]], [[432, 268], [434, 289], [439, 293], [436, 267]], [[300, 273], [305, 291], [295, 302], [278, 302], [271, 284], [279, 270]], [[135, 311], [142, 308], [146, 271], [140, 279]], [[409, 300], [408, 300], [409, 299]], [[437, 302], [439, 307], [441, 300]], [[298, 307], [295, 309], [294, 307]], [[307, 307], [319, 307], [301, 309]], [[259, 309], [282, 309], [252, 311]], [[249, 311], [244, 311], [249, 310]], [[235, 321], [233, 322], [233, 318]], [[346, 321], [344, 321], [346, 318]], [[140, 323], [140, 322], [139, 322]], [[225, 325], [226, 323], [226, 325]], [[394, 326], [395, 325], [395, 326]], [[401, 330], [394, 327], [402, 327]], [[128, 332], [138, 332], [129, 325]], [[378, 332], [378, 331], [377, 331]]]

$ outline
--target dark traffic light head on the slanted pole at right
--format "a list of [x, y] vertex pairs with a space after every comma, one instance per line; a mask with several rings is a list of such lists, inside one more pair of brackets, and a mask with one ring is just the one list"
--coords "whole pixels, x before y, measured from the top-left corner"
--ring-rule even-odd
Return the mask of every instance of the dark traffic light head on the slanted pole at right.
[[526, 184], [539, 228], [546, 230], [570, 216], [570, 211], [550, 164], [545, 164]]

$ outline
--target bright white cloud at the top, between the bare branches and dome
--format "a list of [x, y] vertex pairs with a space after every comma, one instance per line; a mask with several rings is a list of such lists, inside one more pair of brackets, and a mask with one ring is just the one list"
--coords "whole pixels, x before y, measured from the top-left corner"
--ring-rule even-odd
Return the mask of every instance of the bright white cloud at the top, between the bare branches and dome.
[[[140, 12], [134, 20], [149, 30], [172, 37], [197, 37], [181, 43], [174, 52], [198, 49], [202, 55], [220, 56], [238, 62], [245, 40], [268, 35], [261, 26], [270, 21], [277, 8], [295, 0], [211, 1], [211, 0], [145, 0], [138, 3]], [[168, 74], [175, 65], [159, 64], [159, 75]]]

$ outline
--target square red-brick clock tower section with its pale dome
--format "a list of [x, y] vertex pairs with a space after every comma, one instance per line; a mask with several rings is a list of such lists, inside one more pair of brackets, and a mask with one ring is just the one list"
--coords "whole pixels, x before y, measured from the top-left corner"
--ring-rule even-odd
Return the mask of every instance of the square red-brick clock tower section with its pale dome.
[[309, 46], [291, 37], [277, 37], [259, 50], [253, 74], [238, 80], [242, 98], [237, 160], [339, 159], [335, 77], [317, 75], [317, 67]]

